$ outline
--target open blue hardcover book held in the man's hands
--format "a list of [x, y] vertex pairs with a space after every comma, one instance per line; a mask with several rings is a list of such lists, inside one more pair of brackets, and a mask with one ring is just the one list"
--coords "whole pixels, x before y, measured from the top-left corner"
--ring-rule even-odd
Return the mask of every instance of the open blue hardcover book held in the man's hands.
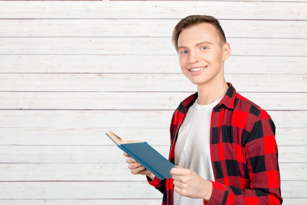
[[172, 178], [170, 170], [175, 167], [170, 161], [162, 156], [146, 141], [129, 140], [123, 141], [120, 137], [109, 131], [105, 133], [120, 149], [126, 152], [135, 161], [153, 173], [154, 176], [163, 180]]

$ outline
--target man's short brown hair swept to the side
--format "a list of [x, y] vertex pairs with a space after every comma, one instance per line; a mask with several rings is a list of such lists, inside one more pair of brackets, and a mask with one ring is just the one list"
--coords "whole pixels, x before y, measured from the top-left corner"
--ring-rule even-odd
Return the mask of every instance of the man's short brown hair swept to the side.
[[201, 23], [211, 24], [217, 31], [220, 37], [220, 45], [221, 47], [227, 42], [224, 30], [222, 29], [220, 22], [214, 18], [213, 16], [206, 15], [191, 15], [181, 19], [178, 24], [175, 26], [172, 34], [172, 42], [175, 46], [175, 49], [178, 53], [178, 38], [179, 34], [183, 29], [189, 28], [191, 26], [195, 26]]

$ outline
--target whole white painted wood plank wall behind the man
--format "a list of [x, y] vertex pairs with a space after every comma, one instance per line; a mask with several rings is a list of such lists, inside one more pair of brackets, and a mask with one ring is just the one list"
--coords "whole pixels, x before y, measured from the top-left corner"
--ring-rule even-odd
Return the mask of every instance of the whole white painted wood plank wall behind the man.
[[0, 1], [0, 205], [157, 205], [106, 138], [165, 157], [173, 111], [196, 87], [171, 43], [213, 15], [226, 79], [276, 127], [283, 205], [307, 204], [307, 1]]

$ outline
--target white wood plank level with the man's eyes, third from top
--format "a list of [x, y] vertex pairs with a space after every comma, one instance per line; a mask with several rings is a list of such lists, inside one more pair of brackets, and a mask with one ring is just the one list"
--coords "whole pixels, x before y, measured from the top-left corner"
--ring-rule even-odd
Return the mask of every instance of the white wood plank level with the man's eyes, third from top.
[[[307, 56], [307, 38], [228, 38], [228, 42], [234, 56]], [[0, 54], [177, 55], [177, 52], [170, 37], [0, 37]]]

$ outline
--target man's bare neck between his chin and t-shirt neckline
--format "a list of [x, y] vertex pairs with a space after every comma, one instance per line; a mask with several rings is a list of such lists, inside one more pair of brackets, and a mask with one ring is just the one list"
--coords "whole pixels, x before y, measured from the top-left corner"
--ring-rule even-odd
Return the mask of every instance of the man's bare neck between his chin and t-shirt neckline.
[[197, 103], [200, 105], [211, 104], [216, 100], [218, 100], [219, 98], [221, 98], [222, 96], [224, 96], [228, 88], [229, 87], [226, 83], [224, 76], [222, 81], [206, 82], [205, 84], [197, 85], [197, 92], [198, 92]]

